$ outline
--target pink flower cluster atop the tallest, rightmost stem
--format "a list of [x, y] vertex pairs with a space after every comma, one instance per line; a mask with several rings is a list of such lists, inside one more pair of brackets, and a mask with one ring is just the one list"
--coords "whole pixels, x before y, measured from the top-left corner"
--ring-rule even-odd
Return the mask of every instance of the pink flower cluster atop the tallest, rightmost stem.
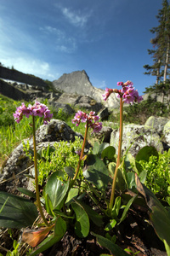
[[122, 86], [121, 90], [113, 90], [106, 88], [105, 94], [103, 95], [106, 101], [112, 92], [118, 93], [118, 97], [122, 96], [123, 102], [133, 104], [133, 102], [141, 102], [143, 100], [142, 96], [139, 96], [138, 90], [134, 90], [133, 82], [127, 81], [126, 83], [118, 82], [118, 86]]

